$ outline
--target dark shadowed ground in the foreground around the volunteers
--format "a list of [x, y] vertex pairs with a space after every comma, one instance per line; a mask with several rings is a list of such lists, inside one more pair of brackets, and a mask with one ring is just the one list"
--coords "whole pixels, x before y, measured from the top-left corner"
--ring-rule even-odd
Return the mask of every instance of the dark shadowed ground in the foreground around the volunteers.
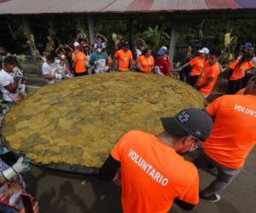
[[[256, 149], [247, 158], [241, 173], [224, 192], [217, 204], [206, 203], [191, 213], [255, 213], [256, 212]], [[212, 176], [201, 171], [201, 187]], [[32, 167], [26, 176], [28, 190], [36, 195], [40, 213], [119, 213], [120, 187], [113, 182], [98, 181], [95, 176], [73, 176]], [[185, 212], [173, 206], [172, 213]]]

